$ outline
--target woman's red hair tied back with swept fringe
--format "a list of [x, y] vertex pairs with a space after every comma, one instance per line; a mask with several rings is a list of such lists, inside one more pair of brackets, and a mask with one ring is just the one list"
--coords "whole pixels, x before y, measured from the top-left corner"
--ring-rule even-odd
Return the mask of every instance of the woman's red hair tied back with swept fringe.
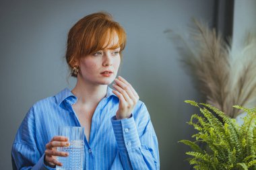
[[[111, 49], [120, 47], [120, 55], [125, 48], [126, 34], [119, 23], [113, 21], [112, 15], [106, 12], [92, 13], [80, 19], [70, 30], [67, 37], [66, 60], [72, 69], [79, 58], [88, 56], [106, 48], [114, 36], [119, 37], [118, 44]], [[109, 37], [107, 37], [110, 35]], [[106, 43], [108, 38], [108, 43]], [[72, 75], [76, 77], [75, 75]]]

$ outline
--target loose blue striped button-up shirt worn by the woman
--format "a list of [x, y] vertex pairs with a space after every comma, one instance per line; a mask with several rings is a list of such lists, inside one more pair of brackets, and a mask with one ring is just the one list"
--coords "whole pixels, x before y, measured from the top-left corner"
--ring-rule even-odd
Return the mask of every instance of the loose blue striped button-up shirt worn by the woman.
[[[64, 89], [36, 102], [26, 114], [13, 142], [15, 169], [55, 169], [44, 164], [45, 145], [59, 126], [81, 126], [72, 105], [77, 97]], [[160, 169], [158, 140], [146, 105], [138, 101], [131, 118], [116, 120], [119, 98], [108, 87], [92, 117], [85, 142], [84, 169]]]

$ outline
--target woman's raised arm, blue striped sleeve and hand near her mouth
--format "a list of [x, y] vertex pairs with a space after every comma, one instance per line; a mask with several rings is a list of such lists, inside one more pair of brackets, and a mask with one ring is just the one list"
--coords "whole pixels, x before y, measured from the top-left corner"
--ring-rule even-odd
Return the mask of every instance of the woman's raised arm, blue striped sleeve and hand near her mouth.
[[119, 109], [111, 121], [123, 167], [160, 169], [158, 140], [146, 105], [137, 103], [139, 95], [123, 77], [115, 83], [113, 93], [119, 97]]

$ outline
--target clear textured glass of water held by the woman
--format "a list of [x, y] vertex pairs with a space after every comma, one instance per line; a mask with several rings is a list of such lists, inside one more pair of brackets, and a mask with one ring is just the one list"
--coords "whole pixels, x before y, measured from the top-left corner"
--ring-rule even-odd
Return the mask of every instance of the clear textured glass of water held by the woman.
[[57, 170], [83, 170], [84, 168], [84, 128], [74, 126], [60, 126], [59, 136], [68, 138], [69, 146], [58, 147], [57, 151], [69, 153], [67, 157], [57, 157], [63, 166], [56, 166]]

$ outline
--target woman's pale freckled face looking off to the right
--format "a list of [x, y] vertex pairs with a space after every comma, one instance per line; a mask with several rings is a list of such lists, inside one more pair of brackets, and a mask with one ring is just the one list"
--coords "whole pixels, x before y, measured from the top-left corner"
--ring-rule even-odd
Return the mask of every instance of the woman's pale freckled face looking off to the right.
[[[108, 40], [108, 39], [107, 39]], [[106, 41], [105, 43], [108, 43]], [[77, 81], [95, 85], [109, 85], [117, 76], [120, 65], [120, 48], [111, 50], [110, 48], [119, 43], [117, 34], [113, 36], [110, 44], [94, 54], [90, 54], [79, 60], [79, 74]]]

